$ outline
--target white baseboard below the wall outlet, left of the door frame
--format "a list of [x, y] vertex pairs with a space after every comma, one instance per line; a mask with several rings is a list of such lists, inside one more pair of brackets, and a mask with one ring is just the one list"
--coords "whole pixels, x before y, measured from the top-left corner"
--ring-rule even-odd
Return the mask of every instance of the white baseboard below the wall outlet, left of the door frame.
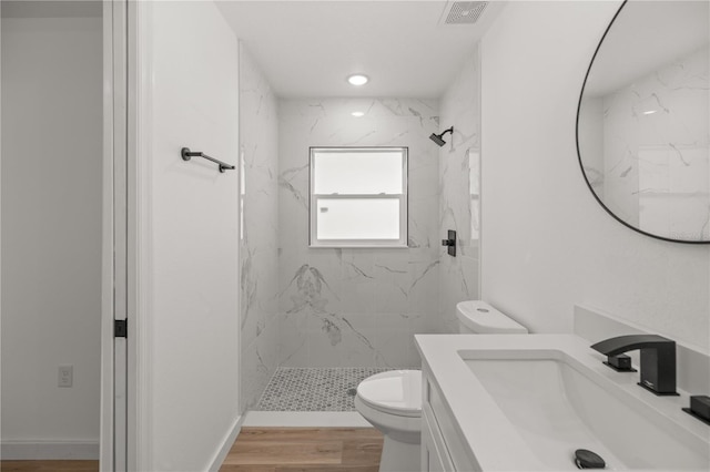
[[99, 460], [99, 441], [2, 441], [0, 458], [26, 460]]

